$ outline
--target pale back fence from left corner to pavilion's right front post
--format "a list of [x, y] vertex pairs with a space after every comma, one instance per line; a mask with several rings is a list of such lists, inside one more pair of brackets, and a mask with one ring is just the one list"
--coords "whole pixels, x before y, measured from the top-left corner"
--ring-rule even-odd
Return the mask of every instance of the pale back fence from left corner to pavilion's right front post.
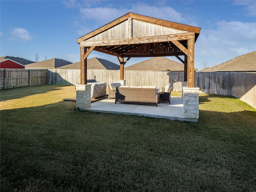
[[[124, 70], [126, 85], [152, 85], [159, 88], [166, 84], [183, 81], [184, 72], [167, 71], [130, 71]], [[120, 70], [87, 70], [87, 79], [98, 82], [114, 83], [120, 80]], [[48, 84], [75, 85], [80, 84], [80, 70], [48, 69]]]

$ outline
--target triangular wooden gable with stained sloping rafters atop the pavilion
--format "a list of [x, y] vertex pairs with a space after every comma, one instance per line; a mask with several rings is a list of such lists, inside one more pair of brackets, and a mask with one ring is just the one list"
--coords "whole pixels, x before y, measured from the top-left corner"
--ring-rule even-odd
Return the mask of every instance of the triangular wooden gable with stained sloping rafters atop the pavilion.
[[[92, 41], [160, 36], [186, 32], [199, 34], [200, 28], [142, 16], [139, 14], [128, 13], [105, 26], [78, 38], [77, 42], [81, 43], [85, 40]], [[198, 35], [196, 35], [196, 38], [197, 36]]]

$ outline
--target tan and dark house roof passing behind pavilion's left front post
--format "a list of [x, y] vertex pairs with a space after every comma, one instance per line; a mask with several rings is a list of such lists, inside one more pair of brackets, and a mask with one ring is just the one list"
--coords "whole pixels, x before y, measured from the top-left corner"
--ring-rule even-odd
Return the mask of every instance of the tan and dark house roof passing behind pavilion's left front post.
[[[59, 67], [59, 69], [80, 69], [80, 61]], [[94, 57], [87, 60], [87, 69], [119, 70], [120, 66], [106, 59]]]

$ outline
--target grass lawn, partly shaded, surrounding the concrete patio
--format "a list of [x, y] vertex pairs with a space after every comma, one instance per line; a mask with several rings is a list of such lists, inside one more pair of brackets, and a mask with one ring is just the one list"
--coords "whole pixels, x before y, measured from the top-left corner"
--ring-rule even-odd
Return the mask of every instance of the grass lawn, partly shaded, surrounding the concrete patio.
[[62, 100], [75, 94], [74, 86], [1, 90], [1, 192], [256, 191], [248, 104], [200, 94], [192, 123], [79, 111]]

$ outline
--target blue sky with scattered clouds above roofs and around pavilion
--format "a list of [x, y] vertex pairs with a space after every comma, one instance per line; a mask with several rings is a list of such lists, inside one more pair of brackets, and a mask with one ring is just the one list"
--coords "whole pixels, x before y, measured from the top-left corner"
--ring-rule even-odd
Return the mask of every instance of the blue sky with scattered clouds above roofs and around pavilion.
[[[134, 12], [201, 28], [195, 44], [195, 68], [211, 67], [256, 51], [256, 1], [0, 1], [0, 56], [39, 61], [80, 61], [76, 40]], [[114, 56], [93, 51], [119, 64]], [[175, 57], [168, 57], [178, 61]], [[132, 58], [125, 66], [149, 58]], [[178, 61], [179, 62], [179, 61]]]

